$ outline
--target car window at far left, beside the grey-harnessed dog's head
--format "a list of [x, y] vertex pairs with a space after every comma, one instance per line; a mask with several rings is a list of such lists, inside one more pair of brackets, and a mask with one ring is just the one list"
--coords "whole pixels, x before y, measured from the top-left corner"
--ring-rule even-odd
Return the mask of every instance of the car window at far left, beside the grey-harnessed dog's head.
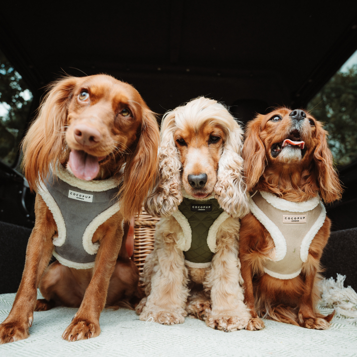
[[9, 166], [16, 166], [32, 97], [21, 75], [0, 51], [0, 160]]

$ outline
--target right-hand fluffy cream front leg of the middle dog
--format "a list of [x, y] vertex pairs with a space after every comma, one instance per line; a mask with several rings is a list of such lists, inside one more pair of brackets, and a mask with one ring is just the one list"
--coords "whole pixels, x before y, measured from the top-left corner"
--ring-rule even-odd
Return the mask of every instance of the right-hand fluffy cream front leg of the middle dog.
[[226, 332], [245, 328], [251, 319], [243, 300], [243, 283], [238, 259], [239, 223], [233, 218], [224, 222], [217, 234], [217, 252], [205, 286], [211, 289], [212, 311], [206, 324]]

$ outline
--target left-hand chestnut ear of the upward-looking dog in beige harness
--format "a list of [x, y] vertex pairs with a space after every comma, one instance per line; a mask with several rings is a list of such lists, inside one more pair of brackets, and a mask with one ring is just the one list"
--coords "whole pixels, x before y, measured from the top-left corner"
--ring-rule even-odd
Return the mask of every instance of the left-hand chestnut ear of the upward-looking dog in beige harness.
[[259, 182], [267, 164], [264, 144], [259, 136], [261, 119], [263, 117], [259, 114], [254, 120], [248, 122], [245, 133], [242, 157], [244, 160], [244, 177], [248, 191], [252, 191], [254, 186]]

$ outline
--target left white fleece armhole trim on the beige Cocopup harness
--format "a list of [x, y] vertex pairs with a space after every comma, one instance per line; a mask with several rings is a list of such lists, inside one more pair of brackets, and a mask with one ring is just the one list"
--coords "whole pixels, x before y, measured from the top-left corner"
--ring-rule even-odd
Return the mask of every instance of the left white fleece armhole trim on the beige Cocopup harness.
[[275, 259], [279, 261], [284, 259], [287, 252], [286, 240], [279, 228], [265, 215], [265, 213], [255, 204], [255, 202], [249, 198], [250, 211], [255, 218], [267, 229], [270, 236], [274, 240], [275, 245]]

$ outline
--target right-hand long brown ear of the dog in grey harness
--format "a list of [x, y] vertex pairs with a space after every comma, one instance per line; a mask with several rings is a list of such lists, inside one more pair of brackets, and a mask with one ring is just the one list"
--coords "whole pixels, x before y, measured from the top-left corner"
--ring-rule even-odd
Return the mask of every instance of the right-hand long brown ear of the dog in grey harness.
[[120, 204], [125, 207], [125, 220], [141, 213], [157, 174], [159, 126], [154, 113], [146, 105], [142, 105], [142, 110], [141, 132], [135, 151], [126, 162], [120, 190]]

